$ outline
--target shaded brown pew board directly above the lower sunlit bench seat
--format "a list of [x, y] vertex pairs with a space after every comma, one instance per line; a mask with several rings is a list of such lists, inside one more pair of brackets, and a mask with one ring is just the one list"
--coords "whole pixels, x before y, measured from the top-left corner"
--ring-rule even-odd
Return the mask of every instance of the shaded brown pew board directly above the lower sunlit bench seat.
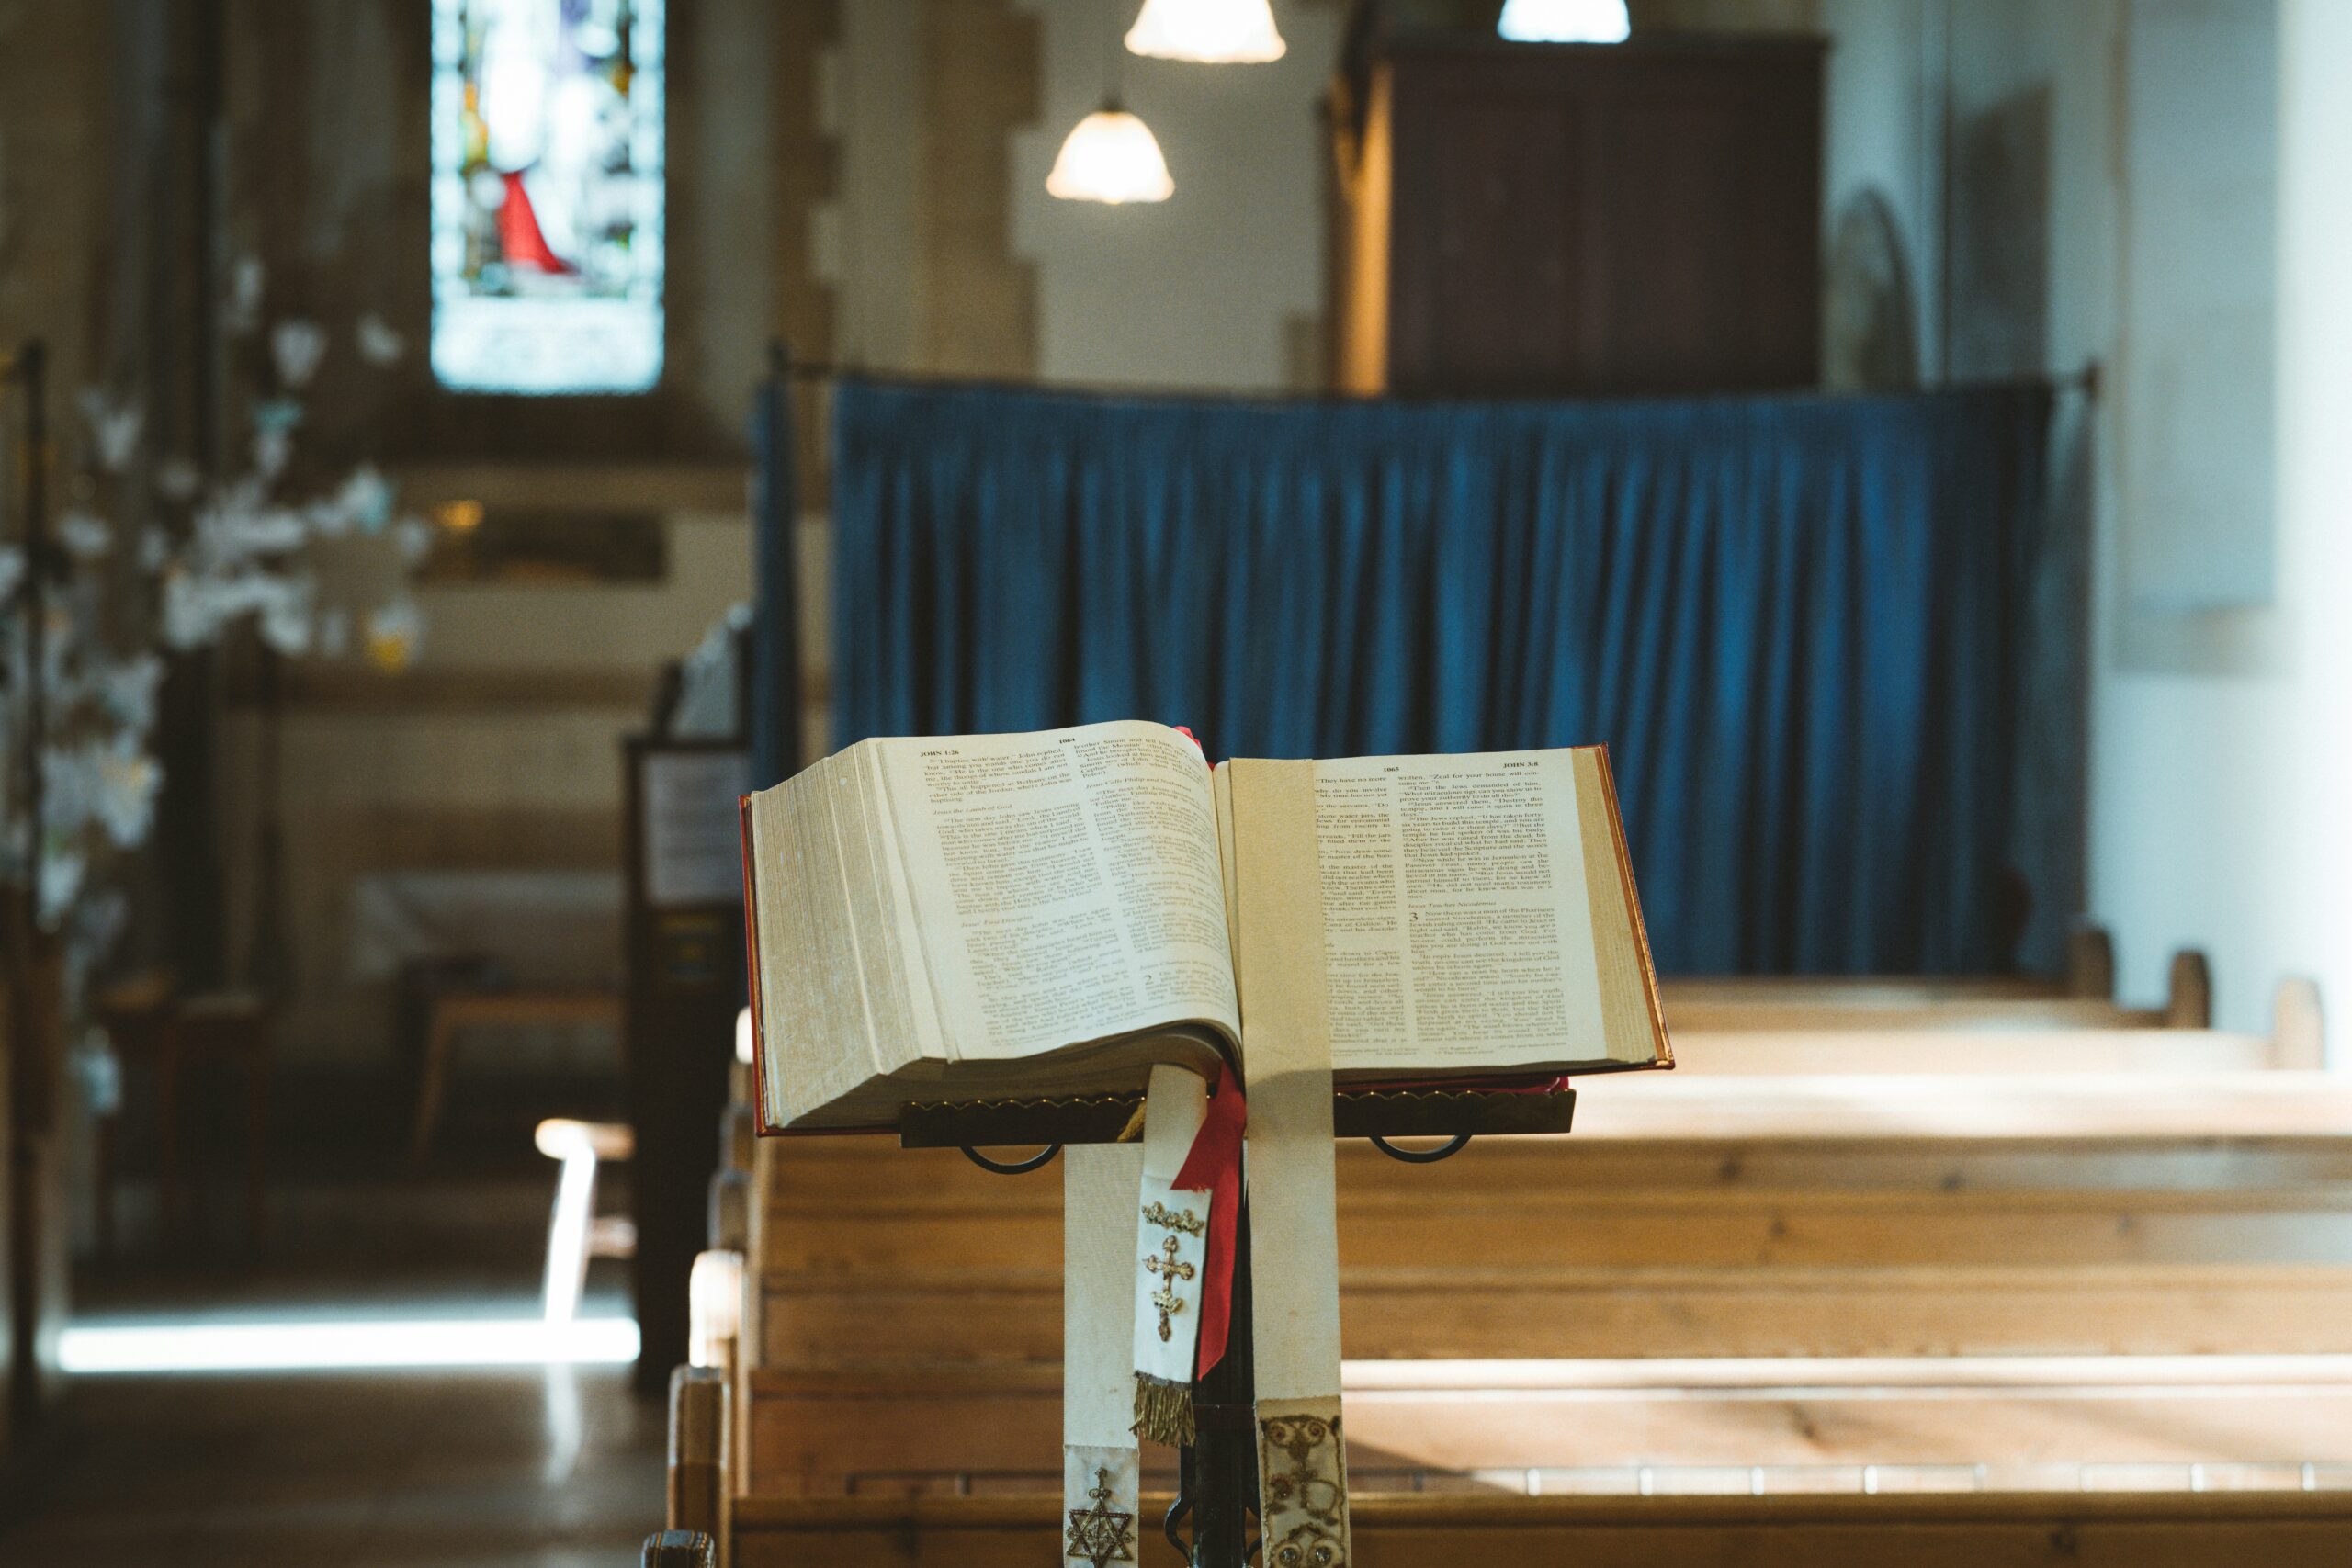
[[[762, 1363], [1054, 1361], [1058, 1307], [1028, 1274], [769, 1291]], [[1341, 1333], [1369, 1359], [2352, 1349], [2352, 1265], [1343, 1267]]]

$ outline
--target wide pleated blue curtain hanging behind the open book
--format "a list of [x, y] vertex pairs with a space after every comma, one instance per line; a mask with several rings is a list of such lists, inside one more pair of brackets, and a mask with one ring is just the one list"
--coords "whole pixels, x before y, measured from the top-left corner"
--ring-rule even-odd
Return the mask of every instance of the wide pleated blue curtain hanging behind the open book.
[[[844, 383], [833, 724], [1214, 757], [1602, 741], [1665, 971], [2016, 926], [2049, 393], [1230, 402]], [[2034, 877], [2039, 879], [2039, 877]]]

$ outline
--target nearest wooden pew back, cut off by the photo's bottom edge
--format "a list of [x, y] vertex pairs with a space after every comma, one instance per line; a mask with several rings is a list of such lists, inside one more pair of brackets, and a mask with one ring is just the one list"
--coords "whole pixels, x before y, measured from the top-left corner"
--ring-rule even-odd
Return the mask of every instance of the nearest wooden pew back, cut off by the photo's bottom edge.
[[[1164, 1495], [1143, 1497], [1157, 1521]], [[1056, 1561], [1061, 1497], [743, 1497], [736, 1568]], [[2303, 1568], [2352, 1559], [2352, 1493], [1764, 1497], [1359, 1495], [1367, 1568]], [[1176, 1568], [1160, 1533], [1138, 1561]]]

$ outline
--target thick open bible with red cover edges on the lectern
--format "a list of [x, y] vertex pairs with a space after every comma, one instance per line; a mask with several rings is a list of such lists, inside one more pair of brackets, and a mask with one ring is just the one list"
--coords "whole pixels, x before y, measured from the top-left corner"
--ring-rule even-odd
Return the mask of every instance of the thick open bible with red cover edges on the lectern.
[[[861, 741], [746, 797], [743, 851], [771, 1131], [1247, 1077], [1254, 1004], [1324, 1027], [1341, 1084], [1672, 1065], [1599, 748], [1211, 773], [1145, 722]], [[1244, 917], [1242, 867], [1279, 912]]]

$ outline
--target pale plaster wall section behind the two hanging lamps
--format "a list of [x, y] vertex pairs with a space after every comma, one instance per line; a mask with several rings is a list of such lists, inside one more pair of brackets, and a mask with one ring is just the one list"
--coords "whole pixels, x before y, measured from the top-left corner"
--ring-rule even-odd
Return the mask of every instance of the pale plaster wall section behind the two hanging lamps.
[[1105, 89], [1105, 40], [1134, 7], [1023, 0], [1044, 33], [1040, 125], [1014, 139], [1014, 249], [1037, 263], [1037, 374], [1150, 388], [1289, 383], [1289, 322], [1324, 308], [1322, 96], [1343, 7], [1275, 0], [1289, 52], [1190, 66], [1117, 49], [1127, 108], [1167, 153], [1176, 195], [1058, 202], [1054, 153]]

